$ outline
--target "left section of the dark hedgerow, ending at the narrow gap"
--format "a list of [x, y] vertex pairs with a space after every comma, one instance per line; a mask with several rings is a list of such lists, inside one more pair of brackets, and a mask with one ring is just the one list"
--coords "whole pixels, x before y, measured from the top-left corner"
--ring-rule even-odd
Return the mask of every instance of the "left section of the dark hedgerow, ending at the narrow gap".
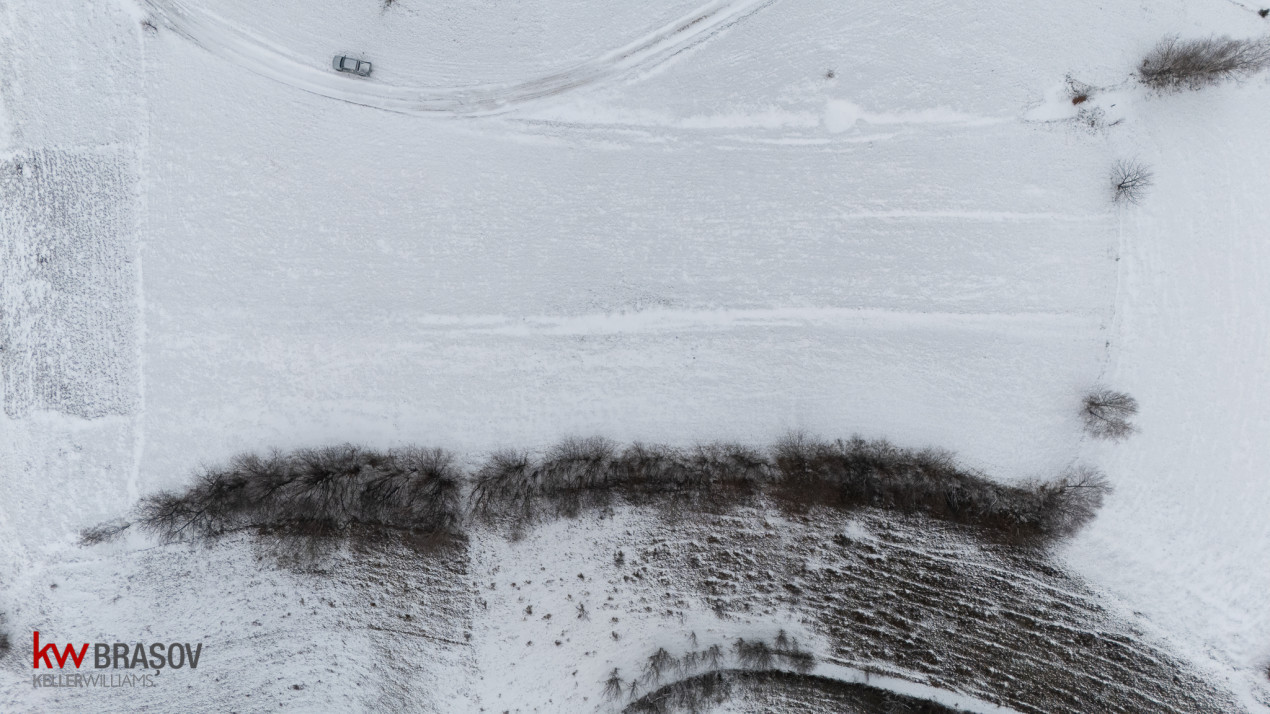
[[138, 521], [164, 541], [243, 527], [310, 536], [354, 526], [448, 534], [460, 526], [460, 480], [453, 457], [438, 448], [245, 454], [203, 471], [184, 493], [142, 499]]

